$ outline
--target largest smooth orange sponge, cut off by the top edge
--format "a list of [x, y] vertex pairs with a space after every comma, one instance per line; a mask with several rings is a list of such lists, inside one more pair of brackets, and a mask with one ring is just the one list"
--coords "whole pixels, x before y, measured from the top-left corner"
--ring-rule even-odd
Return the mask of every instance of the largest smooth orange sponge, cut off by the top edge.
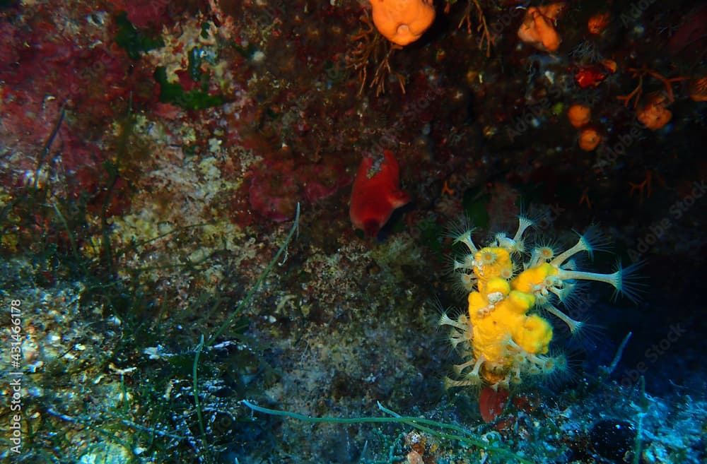
[[398, 45], [418, 40], [435, 20], [432, 0], [370, 0], [373, 24]]

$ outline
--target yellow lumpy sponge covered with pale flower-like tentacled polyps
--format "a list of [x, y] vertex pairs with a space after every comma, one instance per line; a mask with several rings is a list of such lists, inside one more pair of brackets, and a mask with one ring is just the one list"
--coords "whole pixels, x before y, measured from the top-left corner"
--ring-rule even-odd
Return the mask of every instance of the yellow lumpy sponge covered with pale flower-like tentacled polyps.
[[604, 239], [595, 228], [590, 227], [577, 244], [561, 254], [550, 246], [534, 246], [528, 252], [522, 236], [532, 227], [532, 221], [521, 217], [519, 222], [512, 239], [497, 234], [480, 249], [470, 231], [455, 234], [455, 242], [469, 250], [454, 263], [462, 287], [469, 290], [469, 307], [456, 321], [446, 314], [440, 320], [440, 325], [452, 328], [450, 342], [464, 358], [455, 366], [455, 378], [446, 380], [448, 387], [509, 388], [526, 376], [561, 369], [566, 364], [563, 356], [548, 354], [552, 326], [540, 313], [558, 317], [573, 333], [580, 330], [580, 321], [556, 307], [570, 301], [578, 280], [607, 282], [617, 292], [636, 297], [635, 289], [626, 287], [626, 278], [631, 280], [636, 266], [622, 269], [619, 265], [611, 274], [576, 270], [572, 256], [581, 252], [592, 256], [604, 247]]

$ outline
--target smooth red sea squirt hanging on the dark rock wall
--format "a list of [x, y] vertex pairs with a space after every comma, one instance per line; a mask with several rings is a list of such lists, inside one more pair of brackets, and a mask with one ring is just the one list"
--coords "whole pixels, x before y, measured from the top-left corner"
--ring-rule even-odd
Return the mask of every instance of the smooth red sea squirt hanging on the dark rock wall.
[[400, 189], [400, 167], [390, 150], [383, 152], [385, 160], [374, 163], [365, 157], [351, 191], [349, 215], [356, 229], [368, 237], [378, 234], [396, 208], [406, 205], [410, 196]]

